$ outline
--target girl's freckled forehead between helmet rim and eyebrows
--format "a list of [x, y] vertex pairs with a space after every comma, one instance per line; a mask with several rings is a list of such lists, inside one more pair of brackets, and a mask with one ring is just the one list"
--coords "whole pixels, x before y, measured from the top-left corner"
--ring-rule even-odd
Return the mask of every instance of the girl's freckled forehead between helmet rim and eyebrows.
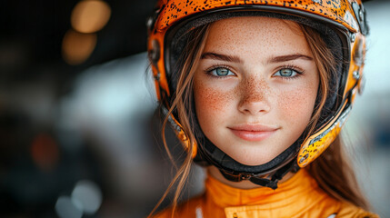
[[310, 54], [305, 36], [293, 21], [264, 16], [232, 17], [210, 26], [205, 51], [228, 54]]

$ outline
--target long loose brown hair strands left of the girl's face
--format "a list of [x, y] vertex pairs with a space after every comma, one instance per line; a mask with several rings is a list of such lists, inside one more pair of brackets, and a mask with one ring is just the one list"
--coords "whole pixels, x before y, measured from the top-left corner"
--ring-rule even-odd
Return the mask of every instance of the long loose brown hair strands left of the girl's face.
[[[155, 208], [150, 213], [150, 215], [155, 213], [157, 207], [161, 203], [163, 203], [165, 197], [168, 195], [170, 190], [174, 187], [175, 183], [177, 183], [174, 199], [172, 201], [172, 207], [173, 207], [172, 211], [175, 212], [175, 208], [177, 206], [177, 201], [180, 197], [180, 193], [185, 187], [186, 179], [191, 170], [191, 166], [193, 163], [191, 154], [193, 154], [193, 150], [195, 147], [195, 135], [194, 135], [194, 128], [193, 126], [191, 126], [191, 124], [194, 123], [193, 122], [190, 123], [191, 116], [189, 116], [187, 112], [190, 110], [190, 108], [192, 108], [192, 102], [193, 102], [192, 101], [193, 82], [194, 82], [193, 79], [195, 74], [194, 66], [197, 65], [198, 61], [200, 60], [200, 56], [205, 47], [205, 38], [208, 35], [208, 30], [209, 30], [209, 25], [203, 25], [201, 27], [195, 28], [194, 30], [191, 30], [190, 32], [186, 33], [187, 35], [189, 35], [188, 42], [186, 43], [181, 59], [178, 60], [178, 64], [181, 65], [180, 67], [181, 71], [180, 74], [178, 74], [177, 87], [175, 90], [175, 94], [173, 94], [171, 100], [172, 101], [171, 107], [169, 108], [168, 113], [165, 116], [162, 125], [161, 134], [162, 134], [163, 144], [165, 146], [166, 153], [168, 154], [172, 163], [176, 165], [175, 159], [173, 158], [171, 152], [169, 151], [165, 139], [165, 128], [166, 125], [168, 124], [169, 116], [175, 112], [175, 114], [177, 114], [177, 119], [180, 121], [180, 124], [182, 125], [183, 131], [188, 137], [188, 147], [186, 148], [186, 156], [185, 156], [184, 163], [182, 163], [179, 168], [175, 167], [176, 174], [174, 179], [172, 180], [171, 183], [169, 183], [168, 188], [166, 189], [165, 193], [158, 201], [158, 203], [155, 205]], [[163, 95], [161, 103], [164, 104], [164, 102], [167, 101], [169, 101], [167, 99], [167, 96]], [[174, 213], [172, 213], [172, 217], [174, 217]]]

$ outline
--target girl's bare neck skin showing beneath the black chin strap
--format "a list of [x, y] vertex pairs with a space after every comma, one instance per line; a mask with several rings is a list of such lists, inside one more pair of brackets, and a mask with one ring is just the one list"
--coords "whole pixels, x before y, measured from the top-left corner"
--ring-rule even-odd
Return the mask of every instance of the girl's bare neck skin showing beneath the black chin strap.
[[[227, 179], [225, 179], [224, 175], [216, 168], [214, 165], [207, 167], [207, 172], [213, 176], [216, 180], [218, 180], [221, 183], [225, 183], [231, 187], [238, 188], [238, 189], [255, 189], [262, 186], [259, 186], [258, 184], [252, 183], [250, 181], [241, 181], [241, 182], [232, 182]], [[286, 173], [282, 180], [280, 180], [278, 183], [284, 183], [291, 177], [293, 177], [295, 173]]]

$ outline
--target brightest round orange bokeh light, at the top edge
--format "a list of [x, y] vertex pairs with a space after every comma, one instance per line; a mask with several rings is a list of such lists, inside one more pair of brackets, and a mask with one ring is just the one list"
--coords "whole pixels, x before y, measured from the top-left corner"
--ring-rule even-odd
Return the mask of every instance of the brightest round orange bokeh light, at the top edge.
[[85, 0], [75, 5], [71, 15], [73, 28], [84, 34], [101, 30], [108, 22], [111, 8], [104, 1]]

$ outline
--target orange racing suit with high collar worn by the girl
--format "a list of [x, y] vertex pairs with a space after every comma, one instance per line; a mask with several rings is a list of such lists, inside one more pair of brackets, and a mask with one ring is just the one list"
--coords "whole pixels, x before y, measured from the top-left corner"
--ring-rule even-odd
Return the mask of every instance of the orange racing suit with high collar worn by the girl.
[[[351, 203], [335, 200], [304, 169], [278, 186], [276, 190], [265, 187], [243, 190], [209, 175], [205, 193], [180, 204], [175, 218], [379, 217]], [[171, 218], [171, 214], [172, 210], [168, 208], [154, 218]]]

